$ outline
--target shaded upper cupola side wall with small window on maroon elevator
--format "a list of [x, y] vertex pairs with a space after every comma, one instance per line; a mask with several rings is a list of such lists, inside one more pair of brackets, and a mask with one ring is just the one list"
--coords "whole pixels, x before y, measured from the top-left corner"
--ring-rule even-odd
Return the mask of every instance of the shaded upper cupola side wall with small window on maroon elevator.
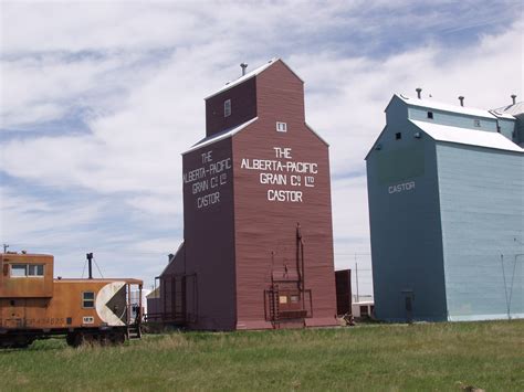
[[[223, 116], [223, 103], [231, 99], [231, 116]], [[206, 100], [206, 136], [218, 134], [256, 117], [255, 78], [245, 81]]]

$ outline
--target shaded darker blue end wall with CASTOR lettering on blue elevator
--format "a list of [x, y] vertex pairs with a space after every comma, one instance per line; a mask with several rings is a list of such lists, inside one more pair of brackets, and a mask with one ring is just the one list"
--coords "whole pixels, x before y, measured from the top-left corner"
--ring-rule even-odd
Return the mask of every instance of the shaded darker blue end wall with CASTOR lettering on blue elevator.
[[[413, 319], [446, 320], [434, 142], [415, 138], [418, 128], [396, 104], [388, 106], [381, 148], [367, 158], [375, 314], [406, 320], [402, 292], [412, 290]], [[391, 193], [390, 187], [411, 182], [415, 188]]]

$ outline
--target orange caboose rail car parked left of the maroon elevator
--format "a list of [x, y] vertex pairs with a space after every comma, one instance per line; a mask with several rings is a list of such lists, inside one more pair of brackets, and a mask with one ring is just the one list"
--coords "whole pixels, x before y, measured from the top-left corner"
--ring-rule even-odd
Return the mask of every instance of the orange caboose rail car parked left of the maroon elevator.
[[[65, 336], [70, 346], [122, 343], [140, 337], [139, 279], [53, 279], [53, 256], [0, 254], [0, 348], [23, 348], [35, 339]], [[132, 303], [138, 292], [138, 303]]]

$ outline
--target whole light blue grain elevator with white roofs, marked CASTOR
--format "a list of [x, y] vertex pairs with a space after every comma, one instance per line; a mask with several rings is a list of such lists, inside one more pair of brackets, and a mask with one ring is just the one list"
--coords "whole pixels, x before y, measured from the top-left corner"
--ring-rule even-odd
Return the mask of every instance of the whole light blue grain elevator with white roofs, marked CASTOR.
[[366, 157], [378, 319], [524, 317], [524, 115], [514, 98], [495, 110], [391, 98]]

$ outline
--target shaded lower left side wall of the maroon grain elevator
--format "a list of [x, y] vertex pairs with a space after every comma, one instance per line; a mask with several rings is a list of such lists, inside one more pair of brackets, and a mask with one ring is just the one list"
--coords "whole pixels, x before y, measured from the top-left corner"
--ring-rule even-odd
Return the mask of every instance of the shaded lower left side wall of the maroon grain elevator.
[[[209, 151], [212, 161], [202, 162], [202, 153]], [[210, 167], [228, 159], [231, 166], [231, 139], [184, 156], [186, 274], [197, 274], [198, 319], [190, 326], [197, 329], [233, 329], [235, 325], [232, 168], [213, 174]], [[205, 178], [189, 181], [188, 173], [200, 168], [206, 170]], [[193, 193], [197, 181], [207, 181], [209, 189]], [[218, 202], [199, 208], [199, 198], [216, 193]]]

